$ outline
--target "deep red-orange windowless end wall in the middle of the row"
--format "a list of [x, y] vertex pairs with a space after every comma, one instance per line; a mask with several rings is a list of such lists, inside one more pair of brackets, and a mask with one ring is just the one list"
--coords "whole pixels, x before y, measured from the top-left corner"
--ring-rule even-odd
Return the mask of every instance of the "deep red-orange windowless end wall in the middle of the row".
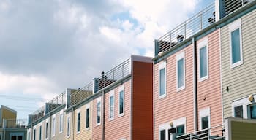
[[132, 139], [153, 139], [153, 63], [134, 61]]

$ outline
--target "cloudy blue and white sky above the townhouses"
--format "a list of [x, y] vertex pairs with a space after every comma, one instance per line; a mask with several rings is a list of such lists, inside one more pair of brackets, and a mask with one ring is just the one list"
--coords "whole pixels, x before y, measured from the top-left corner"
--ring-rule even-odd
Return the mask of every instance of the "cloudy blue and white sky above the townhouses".
[[81, 88], [214, 0], [1, 0], [0, 104], [19, 118]]

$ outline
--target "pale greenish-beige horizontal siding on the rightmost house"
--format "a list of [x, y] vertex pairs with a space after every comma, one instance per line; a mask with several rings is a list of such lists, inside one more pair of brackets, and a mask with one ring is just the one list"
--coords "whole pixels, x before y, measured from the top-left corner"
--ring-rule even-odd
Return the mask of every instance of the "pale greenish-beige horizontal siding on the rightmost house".
[[[228, 26], [221, 28], [222, 91], [224, 117], [232, 117], [231, 104], [238, 98], [256, 93], [256, 10], [241, 18], [244, 63], [230, 69], [230, 40]], [[229, 92], [225, 90], [229, 87]]]

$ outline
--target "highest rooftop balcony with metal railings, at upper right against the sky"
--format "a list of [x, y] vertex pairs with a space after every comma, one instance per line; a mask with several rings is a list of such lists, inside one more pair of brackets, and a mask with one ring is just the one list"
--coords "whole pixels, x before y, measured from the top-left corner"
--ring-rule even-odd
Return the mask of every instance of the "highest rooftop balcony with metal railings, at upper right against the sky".
[[192, 18], [184, 21], [173, 30], [167, 32], [167, 34], [159, 37], [155, 42], [155, 56], [161, 55], [163, 52], [170, 50], [177, 44], [184, 42], [203, 29], [211, 26], [217, 20], [216, 14], [219, 14], [219, 18], [224, 18], [227, 15], [235, 12], [237, 9], [244, 7], [255, 0], [217, 0], [219, 1], [219, 11], [216, 11], [215, 3], [210, 4], [208, 7], [198, 12]]

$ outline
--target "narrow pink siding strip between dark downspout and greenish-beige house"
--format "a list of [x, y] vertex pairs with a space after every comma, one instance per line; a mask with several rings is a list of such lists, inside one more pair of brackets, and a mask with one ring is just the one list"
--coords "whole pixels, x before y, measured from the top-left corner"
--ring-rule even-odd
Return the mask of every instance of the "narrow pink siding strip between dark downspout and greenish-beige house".
[[[214, 127], [222, 125], [219, 30], [212, 32], [206, 37], [208, 38], [208, 79], [197, 82], [197, 104], [198, 114], [200, 110], [210, 108], [211, 127]], [[197, 45], [202, 42], [203, 39], [200, 39]], [[199, 52], [197, 52], [197, 66], [199, 66], [198, 54]], [[197, 75], [197, 79], [199, 79], [199, 69], [197, 69]], [[199, 115], [198, 120], [199, 126]]]

